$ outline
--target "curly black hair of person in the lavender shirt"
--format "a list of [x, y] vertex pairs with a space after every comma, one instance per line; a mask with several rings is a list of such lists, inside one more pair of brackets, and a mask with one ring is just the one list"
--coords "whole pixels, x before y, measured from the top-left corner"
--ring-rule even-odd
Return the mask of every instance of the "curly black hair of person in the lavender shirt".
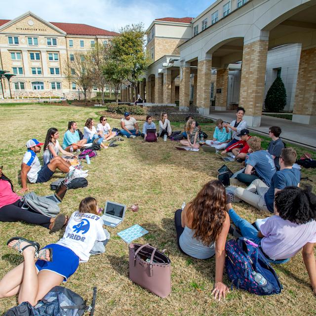
[[295, 224], [316, 220], [316, 195], [312, 187], [287, 187], [276, 193], [276, 209], [279, 216]]

